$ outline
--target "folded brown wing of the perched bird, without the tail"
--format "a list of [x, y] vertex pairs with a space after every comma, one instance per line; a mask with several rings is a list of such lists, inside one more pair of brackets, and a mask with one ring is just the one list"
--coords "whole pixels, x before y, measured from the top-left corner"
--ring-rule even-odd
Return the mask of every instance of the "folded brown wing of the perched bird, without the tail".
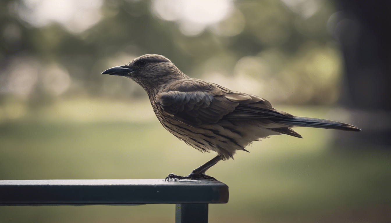
[[293, 117], [273, 109], [267, 100], [258, 96], [193, 78], [171, 84], [154, 101], [170, 116], [192, 126], [222, 120]]

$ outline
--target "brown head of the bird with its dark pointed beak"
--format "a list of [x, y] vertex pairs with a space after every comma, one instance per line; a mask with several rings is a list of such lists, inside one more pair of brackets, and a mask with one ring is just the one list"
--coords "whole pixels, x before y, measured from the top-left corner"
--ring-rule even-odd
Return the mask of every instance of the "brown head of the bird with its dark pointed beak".
[[189, 78], [169, 59], [157, 54], [142, 55], [125, 65], [105, 70], [102, 74], [129, 77], [140, 84], [149, 96], [156, 94], [171, 82]]

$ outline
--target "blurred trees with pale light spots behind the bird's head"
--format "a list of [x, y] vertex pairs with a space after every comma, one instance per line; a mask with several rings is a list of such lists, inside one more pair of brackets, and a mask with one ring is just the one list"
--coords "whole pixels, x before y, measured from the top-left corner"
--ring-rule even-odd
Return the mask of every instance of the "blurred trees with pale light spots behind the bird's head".
[[[32, 105], [60, 95], [145, 96], [134, 83], [99, 73], [147, 53], [165, 55], [191, 77], [225, 77], [222, 84], [275, 102], [333, 104], [339, 95], [341, 58], [325, 25], [334, 7], [325, 0], [1, 4], [0, 94]], [[21, 93], [23, 80], [30, 90]]]

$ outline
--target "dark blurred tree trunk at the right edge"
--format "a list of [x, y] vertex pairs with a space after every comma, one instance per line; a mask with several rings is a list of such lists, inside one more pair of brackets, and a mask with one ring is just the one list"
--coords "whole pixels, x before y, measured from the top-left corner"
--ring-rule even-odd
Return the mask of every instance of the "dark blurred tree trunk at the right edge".
[[[391, 149], [391, 8], [389, 0], [337, 0], [332, 32], [341, 44], [345, 77], [341, 104], [359, 134], [341, 145]], [[330, 18], [331, 20], [332, 18]]]

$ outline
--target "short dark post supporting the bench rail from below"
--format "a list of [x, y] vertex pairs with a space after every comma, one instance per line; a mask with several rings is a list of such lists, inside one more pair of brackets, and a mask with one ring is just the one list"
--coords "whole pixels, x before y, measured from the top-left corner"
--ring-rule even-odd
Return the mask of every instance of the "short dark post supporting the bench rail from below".
[[175, 223], [207, 223], [207, 203], [177, 203], [175, 206]]

